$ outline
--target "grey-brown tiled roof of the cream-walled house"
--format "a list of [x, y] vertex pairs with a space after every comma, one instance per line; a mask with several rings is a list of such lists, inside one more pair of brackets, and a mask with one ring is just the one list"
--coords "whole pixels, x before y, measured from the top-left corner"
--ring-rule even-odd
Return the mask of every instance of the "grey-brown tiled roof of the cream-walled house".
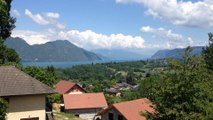
[[14, 66], [0, 66], [0, 83], [0, 96], [54, 93], [52, 88]]

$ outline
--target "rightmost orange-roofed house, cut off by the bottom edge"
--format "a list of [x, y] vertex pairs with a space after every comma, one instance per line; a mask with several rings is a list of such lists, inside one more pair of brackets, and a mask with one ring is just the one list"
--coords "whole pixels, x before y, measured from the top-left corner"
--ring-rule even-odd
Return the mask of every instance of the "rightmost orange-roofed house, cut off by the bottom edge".
[[142, 113], [154, 113], [152, 103], [147, 98], [115, 103], [101, 111], [102, 120], [146, 120]]

